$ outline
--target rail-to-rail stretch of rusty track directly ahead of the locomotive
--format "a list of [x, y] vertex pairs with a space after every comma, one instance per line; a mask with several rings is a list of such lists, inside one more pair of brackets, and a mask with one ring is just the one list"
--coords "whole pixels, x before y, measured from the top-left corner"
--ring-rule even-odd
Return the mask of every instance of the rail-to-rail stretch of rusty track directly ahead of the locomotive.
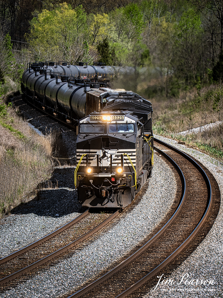
[[[31, 243], [30, 245], [0, 259], [0, 292], [21, 281], [23, 275], [67, 252], [81, 241], [112, 221], [119, 210], [110, 213], [92, 213], [87, 209], [73, 221]], [[26, 280], [26, 277], [24, 278]]]

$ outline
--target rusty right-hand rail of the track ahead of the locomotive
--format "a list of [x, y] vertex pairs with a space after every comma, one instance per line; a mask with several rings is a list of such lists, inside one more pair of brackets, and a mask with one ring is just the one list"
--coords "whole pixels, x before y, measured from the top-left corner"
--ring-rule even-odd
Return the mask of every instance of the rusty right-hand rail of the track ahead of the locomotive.
[[76, 240], [72, 241], [71, 243], [67, 244], [66, 246], [62, 247], [61, 249], [57, 250], [56, 252], [49, 254], [48, 256], [38, 260], [37, 262], [35, 262], [33, 264], [30, 264], [29, 266], [26, 266], [25, 268], [13, 273], [13, 274], [10, 274], [7, 277], [4, 277], [3, 279], [0, 280], [0, 285], [4, 285], [5, 283], [8, 283], [11, 280], [14, 280], [15, 278], [21, 276], [22, 274], [46, 263], [48, 260], [51, 260], [52, 258], [57, 257], [59, 254], [67, 251], [68, 249], [71, 249], [73, 246], [75, 246], [79, 242], [83, 241], [84, 239], [88, 238], [89, 236], [91, 236], [92, 234], [97, 232], [99, 229], [103, 228], [103, 226], [105, 226], [109, 221], [111, 221], [113, 218], [115, 218], [118, 213], [119, 213], [119, 209], [117, 211], [115, 211], [112, 215], [110, 215], [101, 224], [96, 226], [94, 229], [90, 230], [86, 234], [82, 235], [81, 237], [77, 238]]

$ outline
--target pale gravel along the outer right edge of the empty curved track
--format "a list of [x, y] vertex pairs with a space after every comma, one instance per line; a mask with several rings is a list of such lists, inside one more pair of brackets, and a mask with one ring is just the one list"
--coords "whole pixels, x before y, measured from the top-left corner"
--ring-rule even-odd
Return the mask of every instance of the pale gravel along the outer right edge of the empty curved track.
[[[158, 139], [194, 156], [213, 174], [223, 195], [223, 163], [200, 151], [180, 145], [177, 141]], [[160, 276], [160, 275], [159, 275]], [[223, 205], [216, 221], [202, 243], [170, 277], [157, 277], [157, 288], [144, 296], [152, 297], [223, 297]], [[163, 281], [164, 280], [164, 281]], [[165, 284], [167, 280], [167, 284]], [[163, 283], [162, 283], [163, 282]], [[169, 284], [168, 284], [169, 283]]]

